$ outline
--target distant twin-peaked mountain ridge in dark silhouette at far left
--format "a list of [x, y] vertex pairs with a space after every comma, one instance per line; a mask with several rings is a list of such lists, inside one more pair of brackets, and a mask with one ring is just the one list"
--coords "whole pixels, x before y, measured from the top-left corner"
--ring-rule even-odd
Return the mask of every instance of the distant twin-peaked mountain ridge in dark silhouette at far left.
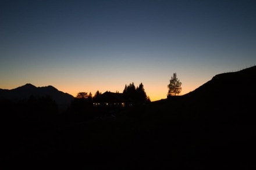
[[33, 95], [36, 97], [51, 96], [59, 107], [65, 107], [74, 99], [72, 95], [58, 91], [54, 86], [36, 87], [32, 84], [19, 86], [15, 89], [0, 89], [0, 99], [26, 100]]

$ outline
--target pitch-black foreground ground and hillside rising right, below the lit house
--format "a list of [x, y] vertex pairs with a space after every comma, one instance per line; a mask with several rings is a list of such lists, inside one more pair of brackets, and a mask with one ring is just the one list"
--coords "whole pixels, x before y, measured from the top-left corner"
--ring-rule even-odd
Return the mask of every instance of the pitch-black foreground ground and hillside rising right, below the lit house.
[[58, 114], [48, 98], [2, 100], [5, 162], [9, 169], [254, 169], [255, 82], [251, 67], [184, 96], [83, 114]]

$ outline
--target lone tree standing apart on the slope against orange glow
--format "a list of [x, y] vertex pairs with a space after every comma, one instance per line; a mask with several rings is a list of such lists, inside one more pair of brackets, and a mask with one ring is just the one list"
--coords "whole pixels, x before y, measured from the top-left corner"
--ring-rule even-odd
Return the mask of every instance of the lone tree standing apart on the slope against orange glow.
[[167, 96], [176, 96], [182, 91], [182, 82], [177, 78], [177, 74], [173, 73], [173, 76], [170, 78], [170, 84], [168, 84], [168, 94]]

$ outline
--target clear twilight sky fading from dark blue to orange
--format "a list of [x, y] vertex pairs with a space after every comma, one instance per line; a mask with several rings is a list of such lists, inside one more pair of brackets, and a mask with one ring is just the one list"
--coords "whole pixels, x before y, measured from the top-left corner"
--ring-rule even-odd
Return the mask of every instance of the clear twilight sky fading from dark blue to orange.
[[0, 88], [30, 83], [165, 99], [256, 64], [256, 1], [0, 1]]

